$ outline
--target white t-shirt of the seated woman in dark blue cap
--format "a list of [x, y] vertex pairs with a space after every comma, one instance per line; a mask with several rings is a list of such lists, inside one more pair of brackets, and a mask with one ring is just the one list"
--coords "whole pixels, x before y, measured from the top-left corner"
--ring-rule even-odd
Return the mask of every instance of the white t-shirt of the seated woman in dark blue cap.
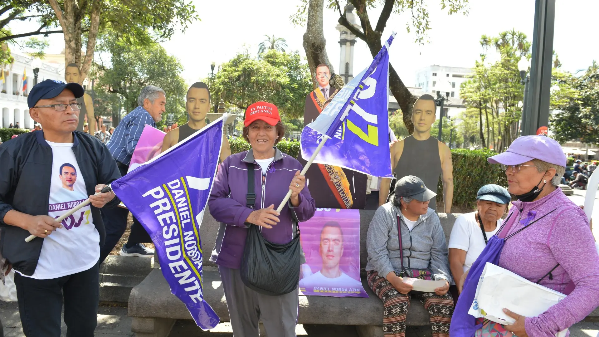
[[[503, 220], [499, 219], [494, 231], [485, 231], [487, 240], [491, 239], [491, 236], [497, 233], [502, 223]], [[466, 251], [464, 272], [470, 269], [470, 266], [472, 266], [483, 249], [485, 249], [485, 238], [480, 230], [480, 225], [476, 222], [476, 212], [462, 214], [455, 219], [455, 224], [453, 224], [451, 236], [449, 237], [449, 245], [447, 246], [448, 248]]]

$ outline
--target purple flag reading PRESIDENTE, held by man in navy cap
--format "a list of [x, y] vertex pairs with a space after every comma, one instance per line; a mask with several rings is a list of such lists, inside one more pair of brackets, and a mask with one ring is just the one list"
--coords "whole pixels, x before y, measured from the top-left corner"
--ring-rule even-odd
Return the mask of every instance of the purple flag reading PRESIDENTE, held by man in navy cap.
[[217, 119], [143, 166], [111, 183], [156, 246], [162, 275], [202, 330], [219, 324], [204, 302], [199, 226], [222, 145]]

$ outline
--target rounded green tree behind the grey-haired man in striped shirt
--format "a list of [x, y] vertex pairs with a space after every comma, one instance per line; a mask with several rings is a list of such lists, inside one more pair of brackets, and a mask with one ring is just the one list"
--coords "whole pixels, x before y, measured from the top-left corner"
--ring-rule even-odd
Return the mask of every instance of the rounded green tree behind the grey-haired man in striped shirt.
[[[129, 112], [137, 107], [137, 98], [144, 86], [159, 86], [167, 93], [167, 112], [162, 116], [159, 126], [171, 119], [179, 124], [187, 122], [187, 85], [180, 76], [183, 66], [177, 58], [168, 55], [158, 43], [132, 46], [117, 40], [103, 47], [110, 55], [110, 60], [100, 57], [92, 73], [92, 77], [97, 79], [96, 88], [99, 91], [122, 97], [123, 109]], [[113, 99], [108, 101], [114, 106]]]

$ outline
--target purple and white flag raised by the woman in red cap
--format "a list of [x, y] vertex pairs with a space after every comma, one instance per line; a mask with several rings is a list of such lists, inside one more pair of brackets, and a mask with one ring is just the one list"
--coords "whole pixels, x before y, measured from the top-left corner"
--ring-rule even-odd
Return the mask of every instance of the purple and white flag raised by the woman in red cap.
[[389, 150], [389, 37], [370, 67], [335, 95], [301, 133], [308, 160], [326, 137], [314, 163], [345, 167], [375, 177], [393, 177]]

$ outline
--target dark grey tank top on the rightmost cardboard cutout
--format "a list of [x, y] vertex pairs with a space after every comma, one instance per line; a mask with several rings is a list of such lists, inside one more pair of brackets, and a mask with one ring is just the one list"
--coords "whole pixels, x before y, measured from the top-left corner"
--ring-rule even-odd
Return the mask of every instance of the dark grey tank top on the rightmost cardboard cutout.
[[[417, 176], [422, 179], [426, 188], [437, 193], [441, 172], [439, 145], [435, 137], [416, 140], [410, 136], [404, 139], [404, 151], [394, 170], [398, 180], [405, 176]], [[435, 200], [431, 200], [428, 207], [437, 209]]]

